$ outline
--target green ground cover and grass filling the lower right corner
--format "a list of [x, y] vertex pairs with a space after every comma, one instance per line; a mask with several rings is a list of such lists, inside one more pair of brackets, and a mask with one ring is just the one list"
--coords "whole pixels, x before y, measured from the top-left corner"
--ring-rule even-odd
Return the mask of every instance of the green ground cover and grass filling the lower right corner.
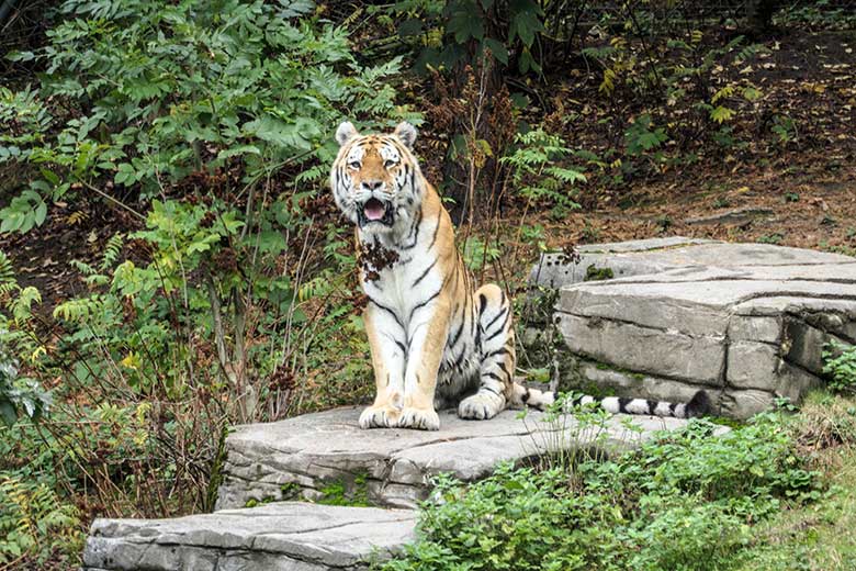
[[[834, 519], [852, 504], [823, 464], [852, 478], [855, 418], [852, 401], [818, 394], [806, 416], [763, 414], [724, 435], [694, 419], [618, 458], [505, 464], [471, 485], [441, 477], [417, 540], [382, 569], [846, 569], [852, 537], [827, 537], [841, 552], [824, 553], [827, 544], [790, 526], [829, 536], [832, 524], [813, 514]], [[824, 422], [849, 429], [807, 454]], [[768, 541], [782, 533], [785, 547]]]

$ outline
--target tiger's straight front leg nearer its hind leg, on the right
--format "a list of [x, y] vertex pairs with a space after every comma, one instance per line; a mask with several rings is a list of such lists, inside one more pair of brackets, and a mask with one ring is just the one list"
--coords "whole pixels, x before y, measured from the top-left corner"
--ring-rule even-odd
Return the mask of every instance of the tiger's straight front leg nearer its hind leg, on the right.
[[443, 300], [419, 307], [410, 320], [407, 370], [404, 373], [404, 410], [398, 426], [439, 430], [433, 408], [437, 372], [449, 335], [449, 304]]

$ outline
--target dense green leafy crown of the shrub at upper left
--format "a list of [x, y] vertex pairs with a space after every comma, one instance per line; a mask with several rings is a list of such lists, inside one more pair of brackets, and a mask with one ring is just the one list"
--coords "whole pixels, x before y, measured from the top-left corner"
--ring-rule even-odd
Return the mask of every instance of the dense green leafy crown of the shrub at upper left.
[[[11, 56], [46, 67], [41, 88], [0, 92], [0, 166], [33, 180], [0, 232], [41, 223], [46, 201], [78, 187], [115, 202], [111, 189], [154, 197], [200, 170], [237, 170], [224, 190], [244, 194], [284, 166], [322, 179], [308, 167], [335, 156], [329, 125], [390, 112], [394, 90], [379, 81], [398, 63], [358, 66], [347, 31], [311, 8], [66, 0], [50, 43]], [[66, 116], [59, 100], [80, 108]]]

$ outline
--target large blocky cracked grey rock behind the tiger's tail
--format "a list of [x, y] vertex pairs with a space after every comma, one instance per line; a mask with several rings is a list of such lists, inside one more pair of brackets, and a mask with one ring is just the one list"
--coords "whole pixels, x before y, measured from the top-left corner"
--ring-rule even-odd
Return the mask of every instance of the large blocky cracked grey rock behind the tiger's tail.
[[[707, 388], [745, 418], [820, 385], [824, 344], [856, 343], [856, 258], [680, 237], [581, 257], [544, 255], [530, 276], [559, 290], [566, 388], [667, 401]], [[590, 266], [615, 279], [584, 281]]]

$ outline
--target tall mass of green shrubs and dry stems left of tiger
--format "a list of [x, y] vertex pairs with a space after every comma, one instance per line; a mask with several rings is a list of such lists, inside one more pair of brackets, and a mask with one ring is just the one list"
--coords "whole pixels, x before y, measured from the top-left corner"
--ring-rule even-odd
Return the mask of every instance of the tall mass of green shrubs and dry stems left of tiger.
[[27, 232], [59, 199], [135, 222], [100, 260], [69, 260], [82, 292], [53, 313], [0, 258], [0, 346], [18, 363], [0, 412], [37, 418], [53, 396], [38, 424], [3, 434], [0, 471], [42, 458], [27, 478], [100, 515], [209, 510], [227, 426], [370, 390], [326, 173], [345, 116], [413, 116], [386, 81], [399, 64], [358, 64], [308, 2], [59, 9], [48, 45], [14, 56], [44, 66], [40, 85], [0, 91], [0, 173], [18, 192], [0, 232]]

